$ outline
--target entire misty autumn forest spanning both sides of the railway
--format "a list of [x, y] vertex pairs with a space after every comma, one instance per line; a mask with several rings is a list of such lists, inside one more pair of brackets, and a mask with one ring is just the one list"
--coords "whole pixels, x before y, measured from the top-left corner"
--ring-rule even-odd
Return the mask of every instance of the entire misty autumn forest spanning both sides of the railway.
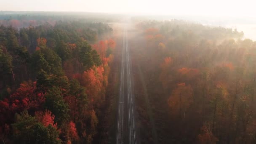
[[179, 19], [0, 11], [0, 144], [255, 144], [256, 41], [244, 36]]

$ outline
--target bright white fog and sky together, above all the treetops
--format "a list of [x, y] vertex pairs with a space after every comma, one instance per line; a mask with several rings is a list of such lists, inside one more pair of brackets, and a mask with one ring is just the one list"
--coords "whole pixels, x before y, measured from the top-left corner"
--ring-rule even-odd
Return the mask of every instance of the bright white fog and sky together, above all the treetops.
[[2, 13], [76, 11], [128, 14], [162, 20], [183, 19], [205, 25], [234, 28], [243, 31], [244, 38], [256, 40], [253, 35], [256, 32], [256, 20], [251, 0], [0, 0], [0, 3]]

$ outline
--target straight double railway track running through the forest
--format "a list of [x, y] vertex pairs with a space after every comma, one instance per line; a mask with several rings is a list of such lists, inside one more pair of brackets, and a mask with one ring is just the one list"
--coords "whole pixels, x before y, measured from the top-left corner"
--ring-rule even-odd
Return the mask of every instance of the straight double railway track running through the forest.
[[117, 144], [136, 144], [130, 65], [127, 31], [124, 29], [117, 116]]

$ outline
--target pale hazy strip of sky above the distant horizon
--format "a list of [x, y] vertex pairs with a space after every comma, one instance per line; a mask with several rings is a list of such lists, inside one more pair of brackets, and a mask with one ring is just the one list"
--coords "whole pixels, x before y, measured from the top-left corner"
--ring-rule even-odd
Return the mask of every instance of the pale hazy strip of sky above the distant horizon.
[[0, 11], [254, 16], [253, 0], [0, 0]]

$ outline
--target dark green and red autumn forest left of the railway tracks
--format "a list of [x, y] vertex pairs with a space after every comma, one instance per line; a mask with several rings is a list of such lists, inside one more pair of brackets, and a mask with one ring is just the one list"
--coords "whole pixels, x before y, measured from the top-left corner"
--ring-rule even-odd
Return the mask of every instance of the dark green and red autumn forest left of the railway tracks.
[[104, 141], [113, 29], [59, 17], [0, 16], [0, 143]]

